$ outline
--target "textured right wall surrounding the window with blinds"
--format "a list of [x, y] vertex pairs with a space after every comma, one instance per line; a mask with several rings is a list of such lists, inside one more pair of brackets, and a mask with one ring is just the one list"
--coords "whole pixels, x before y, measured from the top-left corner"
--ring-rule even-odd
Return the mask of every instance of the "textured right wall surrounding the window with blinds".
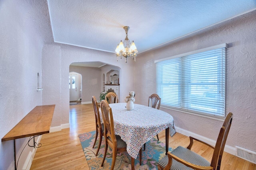
[[[147, 105], [156, 92], [154, 61], [213, 45], [228, 43], [226, 52], [226, 113], [234, 113], [227, 145], [256, 151], [256, 11], [214, 25], [158, 49], [139, 55], [136, 66], [136, 100]], [[169, 109], [177, 127], [215, 140], [222, 121]]]

